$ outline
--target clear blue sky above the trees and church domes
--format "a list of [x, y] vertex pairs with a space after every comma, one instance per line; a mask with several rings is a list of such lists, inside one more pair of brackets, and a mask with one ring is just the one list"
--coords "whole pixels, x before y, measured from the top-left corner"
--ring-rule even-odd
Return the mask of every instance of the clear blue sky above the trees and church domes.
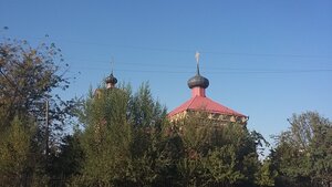
[[[0, 0], [1, 34], [55, 42], [86, 95], [111, 72], [136, 89], [148, 81], [173, 110], [190, 97], [200, 52], [207, 95], [245, 115], [266, 137], [292, 113], [332, 118], [331, 0]], [[80, 72], [80, 73], [79, 73]]]

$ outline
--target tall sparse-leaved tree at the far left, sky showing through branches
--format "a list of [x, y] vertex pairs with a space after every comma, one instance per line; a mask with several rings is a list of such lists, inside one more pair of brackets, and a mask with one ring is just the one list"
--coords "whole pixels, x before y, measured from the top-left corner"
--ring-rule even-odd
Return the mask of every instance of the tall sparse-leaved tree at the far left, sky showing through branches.
[[54, 43], [33, 48], [24, 40], [0, 40], [0, 135], [6, 137], [11, 133], [9, 129], [14, 131], [15, 117], [23, 129], [34, 129], [29, 141], [22, 143], [31, 145], [29, 155], [33, 155], [24, 174], [30, 180], [51, 172], [49, 156], [58, 152], [59, 134], [75, 104], [54, 93], [70, 84], [64, 77], [66, 70], [60, 66], [62, 61], [61, 50]]

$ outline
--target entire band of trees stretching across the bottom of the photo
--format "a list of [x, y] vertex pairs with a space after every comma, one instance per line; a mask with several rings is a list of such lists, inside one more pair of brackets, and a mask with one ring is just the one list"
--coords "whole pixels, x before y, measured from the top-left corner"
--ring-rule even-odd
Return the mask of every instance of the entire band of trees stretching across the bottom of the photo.
[[[331, 186], [332, 123], [315, 112], [294, 114], [260, 160], [261, 134], [206, 113], [169, 122], [147, 83], [63, 101], [58, 61], [54, 44], [0, 43], [0, 186]], [[59, 135], [73, 114], [73, 134]]]

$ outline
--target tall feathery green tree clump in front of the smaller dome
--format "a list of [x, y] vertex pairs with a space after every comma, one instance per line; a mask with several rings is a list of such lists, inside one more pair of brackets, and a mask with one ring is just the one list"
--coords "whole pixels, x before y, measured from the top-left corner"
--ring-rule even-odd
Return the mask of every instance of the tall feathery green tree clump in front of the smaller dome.
[[85, 155], [79, 185], [152, 186], [156, 183], [162, 123], [166, 110], [155, 102], [147, 84], [97, 90], [84, 102], [81, 122]]

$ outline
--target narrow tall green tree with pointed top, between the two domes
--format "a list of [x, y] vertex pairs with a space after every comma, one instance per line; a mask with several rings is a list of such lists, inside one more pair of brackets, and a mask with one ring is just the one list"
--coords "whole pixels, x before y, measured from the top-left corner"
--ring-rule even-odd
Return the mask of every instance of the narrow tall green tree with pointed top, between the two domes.
[[132, 175], [136, 186], [152, 186], [160, 180], [162, 131], [166, 123], [166, 108], [153, 98], [148, 83], [143, 83], [131, 96], [127, 114], [133, 129]]

